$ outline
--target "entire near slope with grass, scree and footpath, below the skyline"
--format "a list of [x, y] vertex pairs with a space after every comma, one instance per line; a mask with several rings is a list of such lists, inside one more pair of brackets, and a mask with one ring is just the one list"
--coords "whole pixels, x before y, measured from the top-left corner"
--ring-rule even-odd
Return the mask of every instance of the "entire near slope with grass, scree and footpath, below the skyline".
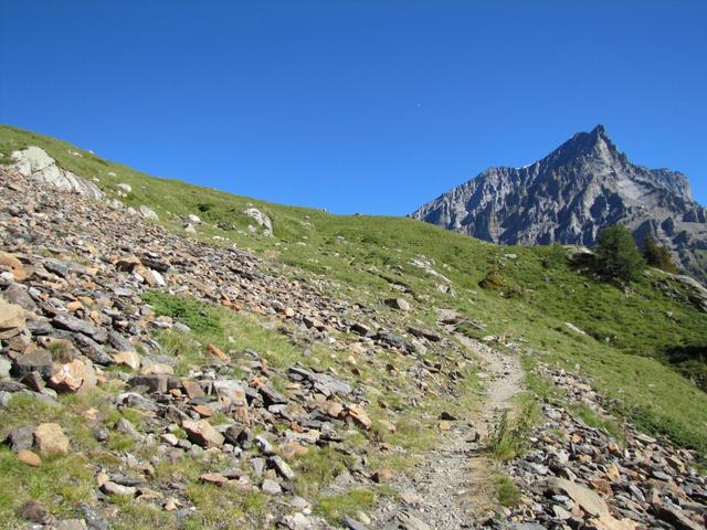
[[679, 277], [0, 151], [0, 528], [704, 524]]

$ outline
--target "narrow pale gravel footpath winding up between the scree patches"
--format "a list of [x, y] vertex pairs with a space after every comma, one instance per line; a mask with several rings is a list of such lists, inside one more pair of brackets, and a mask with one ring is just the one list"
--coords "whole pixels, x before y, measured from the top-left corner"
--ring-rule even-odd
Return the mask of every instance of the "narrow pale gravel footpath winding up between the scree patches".
[[524, 371], [515, 357], [456, 333], [479, 360], [482, 401], [468, 417], [451, 422], [441, 443], [412, 473], [397, 476], [390, 486], [398, 500], [384, 501], [371, 517], [372, 528], [451, 530], [475, 528], [493, 513], [495, 464], [485, 454], [488, 436], [511, 399], [523, 390]]

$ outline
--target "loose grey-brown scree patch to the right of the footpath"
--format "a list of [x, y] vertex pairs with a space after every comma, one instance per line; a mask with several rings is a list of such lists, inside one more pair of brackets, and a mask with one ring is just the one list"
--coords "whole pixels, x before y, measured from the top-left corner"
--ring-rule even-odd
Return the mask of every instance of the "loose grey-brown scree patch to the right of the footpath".
[[[605, 412], [584, 378], [545, 369], [570, 401]], [[677, 528], [707, 526], [707, 478], [696, 455], [675, 449], [623, 425], [625, 441], [587, 425], [562, 404], [542, 405], [542, 425], [530, 449], [514, 460], [526, 502], [513, 511], [513, 528]]]

